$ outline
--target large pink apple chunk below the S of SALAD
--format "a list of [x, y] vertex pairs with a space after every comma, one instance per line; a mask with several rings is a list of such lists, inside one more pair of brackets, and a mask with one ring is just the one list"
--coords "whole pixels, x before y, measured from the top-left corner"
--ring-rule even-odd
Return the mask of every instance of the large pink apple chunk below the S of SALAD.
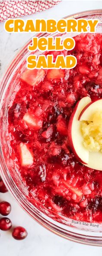
[[29, 85], [35, 86], [41, 82], [44, 76], [45, 70], [43, 69], [26, 69], [26, 71], [21, 76], [21, 80]]

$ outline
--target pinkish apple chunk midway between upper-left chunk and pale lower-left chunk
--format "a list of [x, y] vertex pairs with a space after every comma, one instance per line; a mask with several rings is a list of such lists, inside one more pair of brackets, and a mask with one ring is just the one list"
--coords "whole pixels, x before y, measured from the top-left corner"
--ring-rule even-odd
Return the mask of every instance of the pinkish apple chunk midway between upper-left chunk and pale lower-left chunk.
[[26, 113], [23, 116], [23, 120], [28, 124], [33, 126], [36, 130], [40, 129], [42, 127], [42, 121], [38, 118], [35, 118], [34, 116], [30, 115], [29, 113]]

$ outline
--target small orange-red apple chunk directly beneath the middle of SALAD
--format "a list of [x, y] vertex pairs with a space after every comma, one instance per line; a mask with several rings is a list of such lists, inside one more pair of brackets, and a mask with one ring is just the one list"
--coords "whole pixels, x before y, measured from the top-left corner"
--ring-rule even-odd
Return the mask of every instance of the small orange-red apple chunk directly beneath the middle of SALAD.
[[62, 69], [50, 69], [47, 73], [48, 79], [61, 79], [65, 75], [64, 70]]

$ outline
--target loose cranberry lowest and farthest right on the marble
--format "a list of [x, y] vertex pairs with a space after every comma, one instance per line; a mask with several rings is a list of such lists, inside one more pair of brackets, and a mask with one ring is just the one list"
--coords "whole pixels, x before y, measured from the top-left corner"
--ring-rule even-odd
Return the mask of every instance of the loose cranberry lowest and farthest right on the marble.
[[16, 240], [23, 240], [28, 235], [26, 229], [22, 226], [16, 226], [13, 230], [12, 236]]

